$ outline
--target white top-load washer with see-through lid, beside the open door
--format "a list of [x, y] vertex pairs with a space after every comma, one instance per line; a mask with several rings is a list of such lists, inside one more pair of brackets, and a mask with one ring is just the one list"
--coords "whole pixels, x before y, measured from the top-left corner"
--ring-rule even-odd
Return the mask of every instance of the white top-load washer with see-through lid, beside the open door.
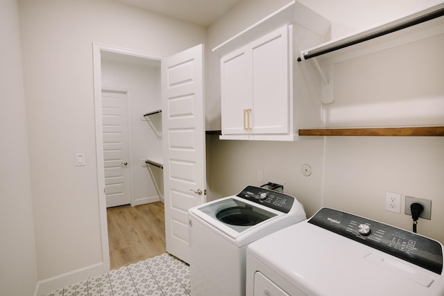
[[191, 295], [245, 295], [248, 244], [305, 219], [293, 196], [255, 186], [189, 209]]

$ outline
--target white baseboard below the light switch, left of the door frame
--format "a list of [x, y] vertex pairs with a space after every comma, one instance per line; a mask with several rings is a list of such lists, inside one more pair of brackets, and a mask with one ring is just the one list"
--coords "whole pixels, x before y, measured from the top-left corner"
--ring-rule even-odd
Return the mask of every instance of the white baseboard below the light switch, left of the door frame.
[[107, 272], [109, 272], [109, 270], [107, 270], [105, 268], [105, 264], [101, 262], [89, 265], [85, 268], [66, 272], [62, 275], [57, 275], [56, 277], [43, 279], [42, 281], [37, 282], [37, 286], [34, 290], [34, 296], [46, 295], [55, 290], [64, 288], [69, 285], [77, 284], [80, 281], [85, 281], [90, 277], [97, 277]]

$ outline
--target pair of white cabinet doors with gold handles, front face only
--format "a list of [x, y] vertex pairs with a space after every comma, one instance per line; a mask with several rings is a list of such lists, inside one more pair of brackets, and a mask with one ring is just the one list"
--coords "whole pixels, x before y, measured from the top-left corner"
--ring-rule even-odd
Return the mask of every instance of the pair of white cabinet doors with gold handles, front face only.
[[292, 137], [289, 31], [282, 26], [221, 58], [221, 139]]

